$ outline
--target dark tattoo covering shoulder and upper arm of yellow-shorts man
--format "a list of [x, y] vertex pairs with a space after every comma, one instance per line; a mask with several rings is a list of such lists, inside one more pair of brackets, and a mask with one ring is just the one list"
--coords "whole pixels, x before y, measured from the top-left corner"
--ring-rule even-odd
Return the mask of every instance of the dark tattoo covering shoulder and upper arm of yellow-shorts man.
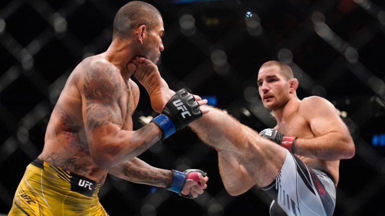
[[122, 123], [122, 114], [117, 102], [121, 79], [114, 68], [104, 64], [90, 66], [84, 76], [83, 89], [87, 100], [88, 129], [109, 122]]

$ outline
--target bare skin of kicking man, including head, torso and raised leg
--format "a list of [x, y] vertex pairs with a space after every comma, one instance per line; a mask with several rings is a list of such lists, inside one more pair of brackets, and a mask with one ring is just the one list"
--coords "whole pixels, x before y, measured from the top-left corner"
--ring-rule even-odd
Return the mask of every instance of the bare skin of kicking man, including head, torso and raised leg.
[[[338, 183], [339, 160], [354, 155], [354, 143], [335, 107], [318, 96], [298, 99], [298, 80], [286, 78], [276, 65], [260, 69], [258, 86], [264, 106], [273, 110], [277, 120], [275, 129], [297, 136], [295, 154], [308, 167], [329, 172]], [[254, 185], [273, 182], [285, 161], [285, 148], [220, 109], [202, 109], [210, 112], [189, 126], [219, 150], [219, 169], [227, 191], [239, 195]]]

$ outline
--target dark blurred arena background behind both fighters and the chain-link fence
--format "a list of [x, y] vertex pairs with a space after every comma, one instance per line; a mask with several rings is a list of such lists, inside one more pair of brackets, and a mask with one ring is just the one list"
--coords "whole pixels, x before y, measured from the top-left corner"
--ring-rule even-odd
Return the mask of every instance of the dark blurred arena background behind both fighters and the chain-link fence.
[[[0, 1], [0, 213], [7, 214], [26, 165], [37, 157], [51, 111], [73, 68], [103, 52], [121, 0]], [[331, 101], [356, 154], [340, 163], [334, 215], [383, 215], [385, 207], [385, 1], [152, 0], [163, 15], [159, 71], [170, 88], [207, 96], [242, 123], [274, 126], [261, 104], [261, 64], [288, 63], [300, 98]], [[134, 129], [153, 116], [142, 90]], [[231, 125], [229, 125], [231, 126]], [[165, 169], [200, 168], [209, 187], [189, 200], [163, 188], [107, 176], [100, 201], [110, 215], [268, 215], [252, 188], [230, 196], [214, 149], [188, 128], [139, 156]], [[231, 173], [229, 173], [231, 174]]]

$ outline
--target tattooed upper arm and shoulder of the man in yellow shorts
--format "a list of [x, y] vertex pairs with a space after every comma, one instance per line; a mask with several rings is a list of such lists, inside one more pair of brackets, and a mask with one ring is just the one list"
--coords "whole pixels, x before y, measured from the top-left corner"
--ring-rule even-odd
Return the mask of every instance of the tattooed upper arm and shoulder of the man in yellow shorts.
[[97, 61], [85, 71], [78, 88], [82, 94], [83, 123], [93, 151], [99, 143], [106, 144], [122, 125], [118, 101], [122, 91], [119, 71], [109, 62]]

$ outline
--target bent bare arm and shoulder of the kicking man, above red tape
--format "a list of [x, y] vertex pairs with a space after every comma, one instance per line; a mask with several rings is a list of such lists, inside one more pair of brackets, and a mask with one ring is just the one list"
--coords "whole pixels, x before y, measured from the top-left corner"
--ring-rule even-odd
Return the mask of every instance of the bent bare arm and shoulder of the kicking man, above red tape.
[[353, 139], [333, 104], [312, 96], [302, 100], [299, 112], [308, 121], [315, 138], [297, 138], [295, 153], [325, 160], [351, 158], [354, 155]]

